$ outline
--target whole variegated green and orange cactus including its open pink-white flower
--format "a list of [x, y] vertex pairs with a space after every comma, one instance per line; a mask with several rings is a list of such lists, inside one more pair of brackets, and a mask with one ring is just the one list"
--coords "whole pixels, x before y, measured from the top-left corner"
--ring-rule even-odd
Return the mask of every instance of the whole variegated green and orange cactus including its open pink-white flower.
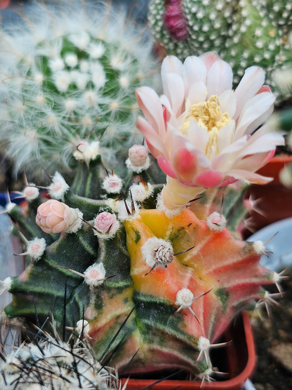
[[[220, 77], [214, 77], [214, 69], [220, 70]], [[27, 198], [23, 208], [10, 204], [8, 211], [28, 242], [37, 237], [47, 246], [38, 258], [31, 256], [23, 274], [2, 282], [3, 289], [13, 294], [5, 312], [35, 321], [36, 313], [44, 320], [53, 311], [61, 333], [84, 317], [99, 360], [119, 372], [182, 367], [209, 378], [209, 349], [215, 340], [242, 308], [268, 299], [261, 285], [278, 284], [281, 279], [259, 264], [260, 255], [266, 253], [264, 243], [238, 237], [243, 209], [237, 206], [246, 186], [236, 179], [269, 181], [254, 171], [271, 158], [276, 145], [283, 144], [283, 137], [267, 126], [250, 136], [274, 101], [262, 86], [259, 68], [249, 68], [233, 92], [231, 68], [215, 53], [187, 58], [184, 65], [167, 57], [162, 80], [160, 99], [149, 87], [137, 89], [146, 117], [139, 117], [137, 126], [167, 174], [162, 195], [164, 183], [157, 179], [155, 161], [147, 168], [145, 148], [135, 145], [129, 152], [130, 176], [121, 183], [122, 189], [119, 183], [114, 191], [103, 186], [104, 180], [114, 177], [117, 183], [119, 178], [102, 171], [97, 157], [89, 162], [86, 177], [79, 178], [82, 185], [75, 185], [76, 193], [65, 185], [60, 193], [61, 184], [56, 183], [63, 180], [60, 174], [53, 177], [51, 197], [55, 197], [54, 187], [62, 202], [41, 203], [38, 197]], [[194, 106], [208, 106], [210, 100], [209, 117], [193, 115]], [[210, 127], [211, 111], [219, 108], [229, 120]], [[179, 160], [178, 150], [183, 159]], [[137, 163], [137, 174], [132, 168], [140, 158], [144, 170]], [[202, 195], [193, 199], [198, 193], [198, 171]], [[171, 196], [172, 179], [184, 202]], [[90, 199], [80, 196], [83, 187], [100, 192]], [[137, 193], [139, 199], [133, 196]], [[83, 213], [75, 232], [65, 231], [69, 216], [63, 205]], [[47, 208], [56, 216], [46, 224], [49, 231], [38, 223]], [[60, 226], [62, 218], [64, 230], [55, 232], [54, 223]]]

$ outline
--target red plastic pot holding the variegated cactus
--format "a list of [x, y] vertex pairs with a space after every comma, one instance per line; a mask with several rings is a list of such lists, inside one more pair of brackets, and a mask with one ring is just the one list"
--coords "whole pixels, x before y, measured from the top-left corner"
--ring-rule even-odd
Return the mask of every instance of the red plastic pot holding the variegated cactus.
[[[216, 355], [211, 358], [213, 364], [217, 364], [219, 371], [228, 372], [229, 379], [223, 381], [204, 381], [203, 390], [208, 389], [225, 389], [241, 390], [247, 378], [252, 375], [255, 367], [256, 356], [255, 346], [252, 336], [252, 328], [247, 312], [242, 312], [233, 326], [230, 326], [224, 333], [222, 340], [219, 342], [232, 340], [224, 348], [217, 351]], [[220, 351], [220, 355], [219, 355]], [[165, 375], [167, 376], [167, 374]], [[122, 379], [122, 386], [127, 379]], [[165, 379], [159, 383], [153, 379], [129, 379], [127, 390], [141, 390], [149, 388], [150, 390], [193, 390], [201, 388], [201, 380], [177, 380]], [[156, 384], [155, 384], [156, 383]], [[151, 386], [152, 385], [152, 386]], [[150, 386], [150, 387], [148, 387]]]

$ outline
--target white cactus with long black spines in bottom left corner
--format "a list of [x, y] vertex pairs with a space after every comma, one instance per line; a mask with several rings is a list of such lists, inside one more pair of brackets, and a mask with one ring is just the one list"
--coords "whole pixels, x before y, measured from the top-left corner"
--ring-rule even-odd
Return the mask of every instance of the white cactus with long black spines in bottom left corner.
[[[77, 388], [121, 390], [118, 373], [104, 367], [92, 351], [86, 334], [86, 321], [80, 321], [70, 343], [53, 329], [54, 337], [37, 329], [30, 332], [32, 342], [6, 351], [0, 362], [0, 386], [6, 390]], [[123, 388], [124, 389], [124, 388]]]

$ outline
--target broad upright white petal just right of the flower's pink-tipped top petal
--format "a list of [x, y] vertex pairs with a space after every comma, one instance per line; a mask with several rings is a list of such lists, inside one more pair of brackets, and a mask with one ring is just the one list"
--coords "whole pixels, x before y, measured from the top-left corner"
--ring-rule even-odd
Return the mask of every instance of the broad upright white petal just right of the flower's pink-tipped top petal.
[[227, 62], [218, 60], [210, 67], [207, 74], [208, 99], [212, 95], [219, 96], [232, 88], [233, 73]]

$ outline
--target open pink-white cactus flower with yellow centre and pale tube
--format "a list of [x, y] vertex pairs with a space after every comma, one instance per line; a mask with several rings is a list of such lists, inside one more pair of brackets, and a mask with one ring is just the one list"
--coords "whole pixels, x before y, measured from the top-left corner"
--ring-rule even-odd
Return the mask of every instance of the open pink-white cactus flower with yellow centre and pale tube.
[[[151, 154], [167, 174], [164, 206], [183, 207], [208, 187], [237, 179], [265, 184], [254, 173], [283, 145], [280, 133], [265, 125], [275, 96], [264, 84], [264, 71], [252, 66], [232, 90], [232, 69], [216, 53], [188, 57], [184, 64], [168, 56], [161, 70], [164, 95], [149, 87], [136, 90], [146, 119], [137, 127]], [[255, 132], [254, 132], [255, 131]]]

